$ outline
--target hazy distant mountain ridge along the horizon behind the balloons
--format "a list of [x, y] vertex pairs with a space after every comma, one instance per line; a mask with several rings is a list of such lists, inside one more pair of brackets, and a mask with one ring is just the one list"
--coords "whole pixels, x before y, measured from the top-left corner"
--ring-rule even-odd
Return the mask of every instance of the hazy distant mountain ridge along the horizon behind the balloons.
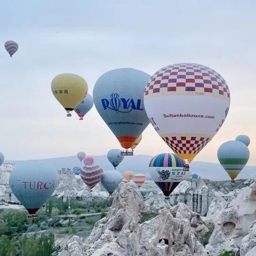
[[[109, 163], [106, 155], [92, 156], [94, 158], [94, 163], [100, 165], [103, 170], [113, 170], [114, 167]], [[134, 173], [145, 173], [148, 177], [148, 164], [153, 156], [149, 155], [134, 155], [125, 156], [123, 161], [117, 167], [117, 171], [123, 173], [127, 170], [131, 170]], [[29, 161], [29, 160], [27, 160]], [[47, 158], [40, 159], [42, 162], [47, 162], [57, 169], [62, 167], [69, 167], [72, 169], [74, 166], [82, 167], [83, 162], [79, 162], [76, 156], [67, 157], [57, 157], [57, 158]], [[8, 161], [5, 163], [19, 164], [20, 162], [26, 161]], [[190, 164], [191, 173], [196, 172], [202, 176], [203, 179], [209, 180], [229, 180], [226, 171], [218, 163], [209, 162], [193, 162]], [[239, 174], [238, 179], [249, 179], [256, 178], [256, 166], [245, 166], [242, 172]]]

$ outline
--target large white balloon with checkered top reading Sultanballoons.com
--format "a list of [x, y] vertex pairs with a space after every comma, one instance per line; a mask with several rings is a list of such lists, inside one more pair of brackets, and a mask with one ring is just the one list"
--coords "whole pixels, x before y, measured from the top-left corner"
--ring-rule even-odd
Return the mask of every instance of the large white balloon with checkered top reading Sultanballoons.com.
[[179, 63], [151, 76], [144, 104], [151, 124], [165, 143], [191, 162], [225, 121], [230, 92], [213, 69]]

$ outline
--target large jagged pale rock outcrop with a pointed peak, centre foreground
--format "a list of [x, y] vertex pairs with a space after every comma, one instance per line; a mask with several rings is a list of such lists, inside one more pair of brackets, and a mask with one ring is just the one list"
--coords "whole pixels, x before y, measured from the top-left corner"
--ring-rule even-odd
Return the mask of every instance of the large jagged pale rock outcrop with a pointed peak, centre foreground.
[[[95, 223], [84, 244], [77, 241], [76, 251], [84, 256], [204, 256], [198, 238], [207, 231], [199, 214], [185, 204], [153, 214], [130, 183], [122, 181], [107, 217]], [[74, 248], [69, 249], [74, 239], [60, 256], [74, 255]]]

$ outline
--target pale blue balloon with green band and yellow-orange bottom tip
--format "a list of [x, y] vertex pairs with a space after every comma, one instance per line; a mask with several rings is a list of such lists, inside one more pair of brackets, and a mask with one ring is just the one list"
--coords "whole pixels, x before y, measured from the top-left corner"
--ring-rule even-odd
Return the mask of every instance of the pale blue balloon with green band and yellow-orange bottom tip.
[[219, 162], [233, 181], [246, 165], [249, 156], [247, 146], [236, 140], [227, 141], [218, 149]]

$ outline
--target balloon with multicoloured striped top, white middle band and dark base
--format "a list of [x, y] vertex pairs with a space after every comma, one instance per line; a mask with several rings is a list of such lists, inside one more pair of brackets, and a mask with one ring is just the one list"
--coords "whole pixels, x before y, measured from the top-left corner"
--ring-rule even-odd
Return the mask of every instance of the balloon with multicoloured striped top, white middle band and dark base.
[[149, 163], [149, 172], [156, 185], [163, 191], [165, 199], [183, 180], [185, 162], [175, 154], [159, 154]]

